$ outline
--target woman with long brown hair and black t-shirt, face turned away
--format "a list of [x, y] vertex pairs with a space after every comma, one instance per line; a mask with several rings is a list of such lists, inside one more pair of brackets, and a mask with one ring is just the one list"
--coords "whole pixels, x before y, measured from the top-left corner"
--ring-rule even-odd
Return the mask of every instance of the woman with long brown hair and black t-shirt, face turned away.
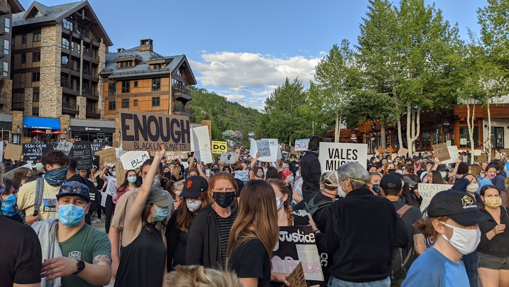
[[244, 287], [269, 285], [272, 250], [279, 236], [276, 218], [272, 186], [265, 180], [249, 180], [242, 189], [227, 250], [228, 266]]

